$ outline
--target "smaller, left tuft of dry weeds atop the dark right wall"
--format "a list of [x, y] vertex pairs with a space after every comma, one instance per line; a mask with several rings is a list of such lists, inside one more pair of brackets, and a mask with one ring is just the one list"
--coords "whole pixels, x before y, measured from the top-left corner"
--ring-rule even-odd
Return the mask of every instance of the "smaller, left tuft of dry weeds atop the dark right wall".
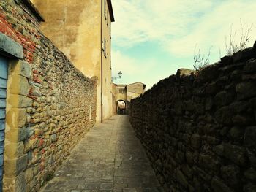
[[209, 57], [211, 55], [211, 47], [208, 51], [208, 55], [201, 55], [200, 49], [197, 50], [197, 45], [195, 45], [194, 49], [194, 69], [196, 71], [199, 71], [200, 69], [203, 69], [204, 67], [208, 66], [210, 64]]

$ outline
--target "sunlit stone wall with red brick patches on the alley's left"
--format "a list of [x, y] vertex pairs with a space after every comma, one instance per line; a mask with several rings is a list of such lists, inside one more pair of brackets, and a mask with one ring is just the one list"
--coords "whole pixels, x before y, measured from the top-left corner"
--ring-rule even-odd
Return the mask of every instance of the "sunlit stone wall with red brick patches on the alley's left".
[[4, 191], [39, 191], [94, 125], [97, 78], [75, 69], [22, 3], [0, 1], [0, 33], [23, 48], [9, 58]]

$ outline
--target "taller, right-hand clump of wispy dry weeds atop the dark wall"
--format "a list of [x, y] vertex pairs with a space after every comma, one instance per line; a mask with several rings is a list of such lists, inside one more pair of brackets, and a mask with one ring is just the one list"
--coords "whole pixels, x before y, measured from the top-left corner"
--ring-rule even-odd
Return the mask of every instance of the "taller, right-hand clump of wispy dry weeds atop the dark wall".
[[238, 52], [239, 50], [244, 50], [250, 40], [250, 33], [252, 31], [252, 26], [243, 24], [242, 20], [240, 18], [240, 39], [239, 42], [236, 42], [236, 34], [237, 31], [233, 32], [233, 25], [230, 26], [230, 36], [229, 39], [227, 40], [227, 37], [225, 37], [225, 49], [227, 55], [233, 55], [233, 53]]

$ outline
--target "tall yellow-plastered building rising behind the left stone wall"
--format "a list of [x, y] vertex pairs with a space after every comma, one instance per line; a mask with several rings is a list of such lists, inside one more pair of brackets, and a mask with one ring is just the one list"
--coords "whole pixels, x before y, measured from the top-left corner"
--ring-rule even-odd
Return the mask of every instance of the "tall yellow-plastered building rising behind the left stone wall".
[[[110, 0], [32, 0], [45, 18], [42, 31], [87, 77], [98, 77], [97, 121], [112, 112]], [[57, 11], [56, 11], [57, 10]]]

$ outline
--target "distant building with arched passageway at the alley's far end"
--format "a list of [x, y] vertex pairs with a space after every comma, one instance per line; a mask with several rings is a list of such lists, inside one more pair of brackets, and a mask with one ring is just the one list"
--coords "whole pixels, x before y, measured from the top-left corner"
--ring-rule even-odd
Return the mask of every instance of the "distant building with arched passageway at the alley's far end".
[[113, 114], [129, 113], [129, 102], [143, 94], [145, 88], [146, 85], [142, 82], [134, 82], [128, 85], [113, 83]]

